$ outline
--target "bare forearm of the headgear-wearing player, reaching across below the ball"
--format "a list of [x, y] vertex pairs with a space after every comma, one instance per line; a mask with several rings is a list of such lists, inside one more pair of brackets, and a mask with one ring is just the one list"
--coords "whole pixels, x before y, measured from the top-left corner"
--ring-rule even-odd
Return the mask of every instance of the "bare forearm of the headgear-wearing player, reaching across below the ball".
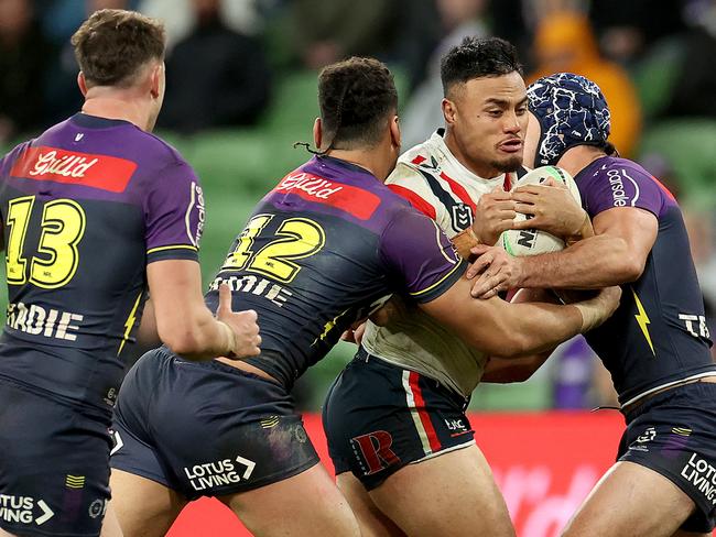
[[631, 281], [626, 243], [595, 235], [554, 253], [520, 259], [519, 287], [597, 289]]

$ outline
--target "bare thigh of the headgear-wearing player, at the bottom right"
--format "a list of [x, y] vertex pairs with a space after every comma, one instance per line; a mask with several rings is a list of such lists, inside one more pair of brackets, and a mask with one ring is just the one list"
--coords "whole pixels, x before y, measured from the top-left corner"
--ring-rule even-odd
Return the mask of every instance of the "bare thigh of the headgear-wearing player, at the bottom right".
[[564, 529], [564, 537], [671, 537], [694, 511], [671, 480], [633, 462], [617, 462]]

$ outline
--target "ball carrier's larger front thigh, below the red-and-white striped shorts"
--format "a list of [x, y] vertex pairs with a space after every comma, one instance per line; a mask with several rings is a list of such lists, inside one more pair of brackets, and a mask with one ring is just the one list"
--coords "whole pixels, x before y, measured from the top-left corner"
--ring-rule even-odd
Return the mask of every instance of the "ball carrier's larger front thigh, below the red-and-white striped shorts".
[[505, 500], [477, 446], [408, 464], [370, 497], [410, 536], [514, 536]]

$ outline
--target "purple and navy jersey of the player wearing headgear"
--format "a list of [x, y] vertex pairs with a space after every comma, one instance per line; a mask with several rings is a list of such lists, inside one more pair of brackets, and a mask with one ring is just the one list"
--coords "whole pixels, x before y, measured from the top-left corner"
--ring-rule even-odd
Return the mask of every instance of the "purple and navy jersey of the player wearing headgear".
[[659, 224], [643, 273], [621, 286], [615, 315], [586, 335], [611, 373], [620, 403], [627, 405], [671, 383], [716, 373], [704, 299], [674, 197], [626, 158], [599, 158], [575, 179], [592, 218], [605, 210], [636, 207], [653, 213]]

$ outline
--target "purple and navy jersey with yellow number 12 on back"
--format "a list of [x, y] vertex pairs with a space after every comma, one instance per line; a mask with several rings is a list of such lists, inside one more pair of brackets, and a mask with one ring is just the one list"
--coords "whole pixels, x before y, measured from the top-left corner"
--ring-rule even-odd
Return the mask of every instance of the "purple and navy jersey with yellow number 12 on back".
[[433, 300], [465, 268], [433, 220], [368, 171], [318, 156], [259, 202], [207, 304], [227, 283], [235, 310], [257, 310], [261, 355], [246, 361], [291, 386], [387, 295]]

